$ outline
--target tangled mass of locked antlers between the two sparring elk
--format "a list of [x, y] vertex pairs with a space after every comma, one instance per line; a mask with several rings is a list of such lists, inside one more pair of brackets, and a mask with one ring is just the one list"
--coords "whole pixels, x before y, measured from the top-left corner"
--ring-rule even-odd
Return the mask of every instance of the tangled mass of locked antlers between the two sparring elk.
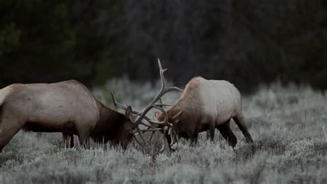
[[[167, 87], [165, 78], [164, 78], [164, 72], [167, 69], [162, 69], [161, 62], [158, 59], [158, 65], [159, 65], [159, 73], [160, 73], [160, 78], [161, 78], [161, 89], [159, 93], [155, 96], [155, 98], [148, 104], [143, 111], [138, 112], [138, 111], [133, 111], [132, 107], [130, 107], [128, 104], [124, 106], [123, 104], [117, 102], [115, 99], [115, 96], [111, 92], [112, 95], [112, 100], [115, 104], [116, 107], [119, 109], [123, 109], [126, 111], [126, 120], [128, 120], [130, 123], [127, 123], [127, 126], [130, 129], [130, 134], [132, 137], [141, 145], [142, 147], [147, 147], [148, 142], [152, 139], [153, 135], [155, 134], [155, 131], [161, 131], [164, 135], [165, 134], [170, 134], [166, 133], [168, 131], [171, 131], [172, 128], [172, 123], [168, 121], [168, 114], [166, 110], [164, 109], [164, 106], [167, 106], [166, 104], [162, 104], [161, 97], [165, 95], [166, 93], [170, 91], [182, 91], [182, 89], [179, 89], [176, 86], [171, 86]], [[162, 120], [151, 120], [146, 116], [146, 114], [151, 110], [151, 109], [158, 109], [164, 114], [164, 119]], [[143, 125], [143, 127], [146, 127], [146, 129], [140, 129], [139, 125]], [[143, 137], [144, 132], [152, 132], [150, 138], [146, 141], [145, 138]], [[139, 140], [139, 137], [141, 140]], [[163, 139], [163, 145], [160, 149], [162, 151], [164, 149], [164, 142], [165, 140]]]

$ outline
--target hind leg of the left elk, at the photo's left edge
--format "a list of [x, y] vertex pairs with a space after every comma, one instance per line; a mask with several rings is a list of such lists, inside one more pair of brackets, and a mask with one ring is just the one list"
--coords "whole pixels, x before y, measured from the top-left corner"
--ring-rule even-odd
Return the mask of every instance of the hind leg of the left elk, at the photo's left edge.
[[[8, 120], [8, 119], [7, 119]], [[21, 129], [21, 124], [19, 122], [11, 123], [12, 120], [1, 122], [1, 130], [0, 130], [0, 152], [3, 147], [5, 147], [8, 142], [17, 134], [17, 132]]]

